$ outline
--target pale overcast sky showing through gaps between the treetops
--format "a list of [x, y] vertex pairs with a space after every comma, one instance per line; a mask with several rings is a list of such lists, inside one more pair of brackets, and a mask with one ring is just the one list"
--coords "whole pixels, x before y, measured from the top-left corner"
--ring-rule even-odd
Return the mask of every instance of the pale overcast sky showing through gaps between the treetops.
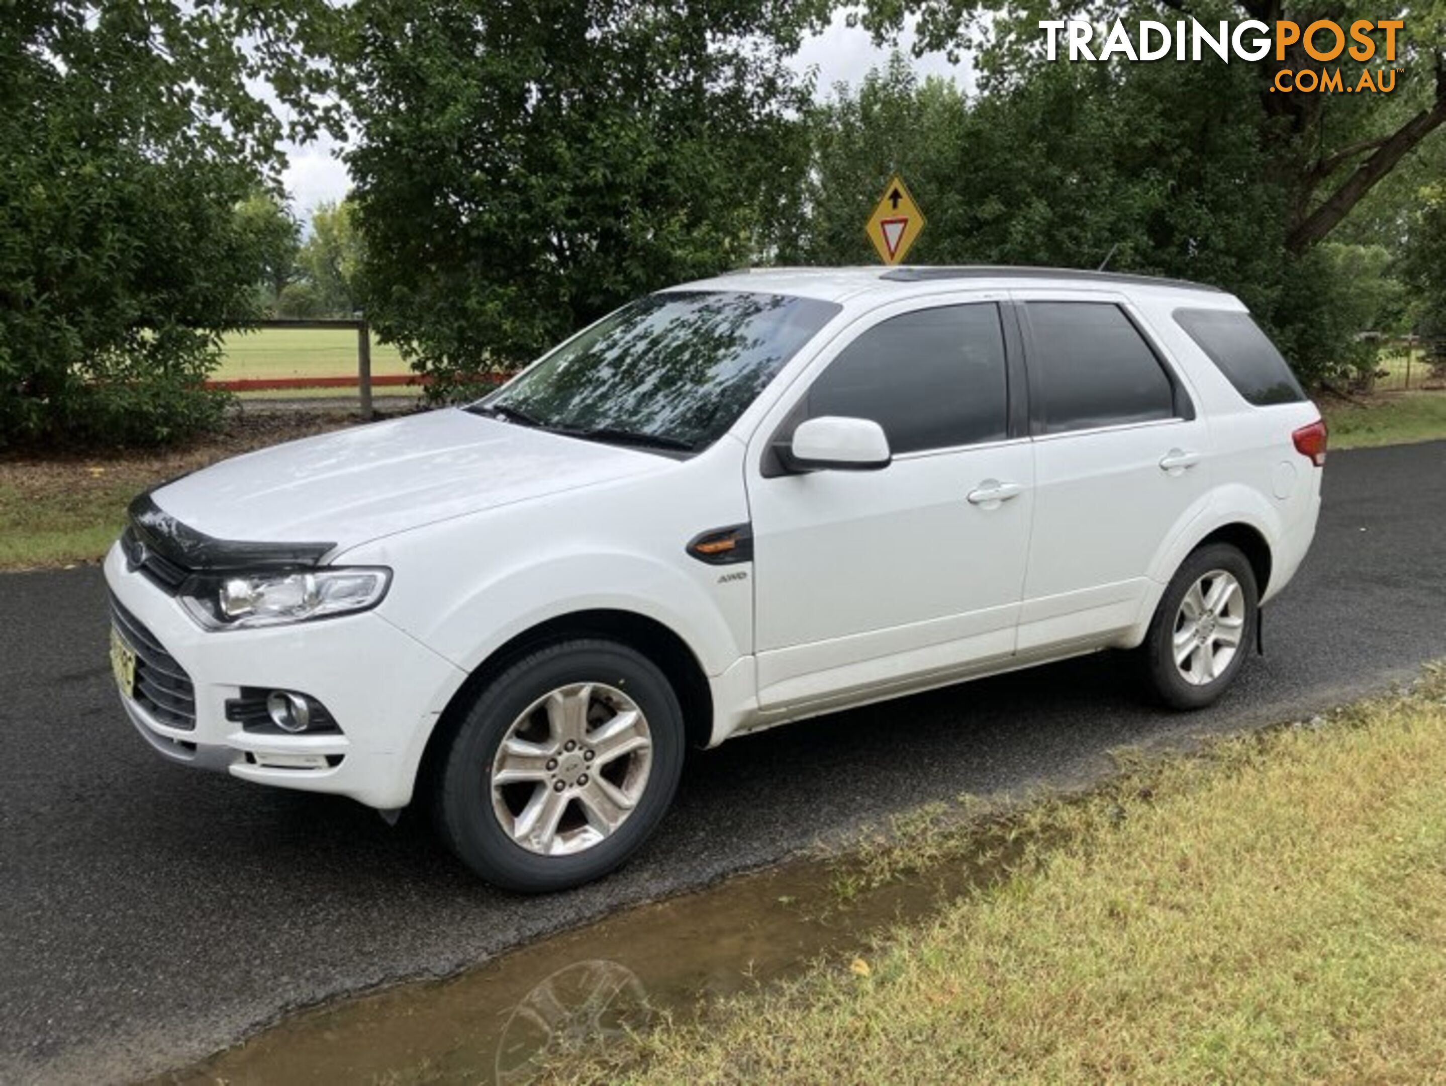
[[[899, 48], [907, 52], [912, 43], [912, 35], [905, 32]], [[800, 72], [817, 67], [818, 93], [824, 95], [831, 91], [836, 82], [857, 85], [870, 68], [876, 68], [886, 59], [888, 49], [875, 48], [865, 30], [844, 26], [844, 16], [839, 13], [827, 30], [804, 43], [792, 59], [792, 65]], [[925, 54], [914, 61], [920, 77], [943, 75], [963, 80], [966, 67], [951, 65], [943, 54]], [[347, 168], [337, 161], [334, 150], [330, 140], [288, 149], [291, 163], [283, 179], [286, 191], [291, 194], [292, 207], [304, 220], [311, 217], [312, 208], [321, 201], [340, 200], [346, 195], [350, 184]]]

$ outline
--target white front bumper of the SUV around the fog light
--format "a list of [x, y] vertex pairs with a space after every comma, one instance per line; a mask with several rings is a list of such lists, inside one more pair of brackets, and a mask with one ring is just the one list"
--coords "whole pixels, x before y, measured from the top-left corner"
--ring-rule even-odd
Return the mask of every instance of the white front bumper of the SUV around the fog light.
[[[211, 632], [140, 573], [119, 547], [106, 557], [106, 583], [150, 636], [189, 675], [194, 727], [159, 719], [121, 696], [126, 714], [162, 756], [246, 781], [348, 795], [370, 807], [411, 801], [427, 737], [466, 674], [377, 612], [295, 626]], [[226, 719], [241, 687], [296, 690], [321, 701], [340, 735], [250, 732]], [[289, 768], [296, 756], [324, 768]]]

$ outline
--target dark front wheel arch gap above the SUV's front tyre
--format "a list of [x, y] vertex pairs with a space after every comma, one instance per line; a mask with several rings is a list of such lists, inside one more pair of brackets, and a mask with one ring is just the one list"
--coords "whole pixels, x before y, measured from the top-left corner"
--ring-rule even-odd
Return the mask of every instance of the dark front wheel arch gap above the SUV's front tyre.
[[[713, 733], [713, 688], [693, 648], [658, 619], [613, 607], [568, 612], [539, 622], [487, 655], [451, 696], [422, 749], [415, 790], [429, 790], [440, 755], [461, 724], [467, 706], [493, 678], [515, 661], [547, 645], [577, 638], [604, 638], [636, 649], [668, 678], [683, 709], [688, 746], [707, 746]], [[414, 800], [415, 800], [414, 792]]]

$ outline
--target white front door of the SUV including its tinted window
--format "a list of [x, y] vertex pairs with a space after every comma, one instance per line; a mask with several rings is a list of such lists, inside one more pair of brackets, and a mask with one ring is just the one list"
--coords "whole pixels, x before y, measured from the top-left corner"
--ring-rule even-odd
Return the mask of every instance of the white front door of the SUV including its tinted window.
[[[1002, 298], [870, 314], [755, 434], [755, 645], [763, 711], [947, 681], [1015, 651], [1034, 512], [1018, 328]], [[869, 418], [892, 463], [790, 473], [807, 418]]]

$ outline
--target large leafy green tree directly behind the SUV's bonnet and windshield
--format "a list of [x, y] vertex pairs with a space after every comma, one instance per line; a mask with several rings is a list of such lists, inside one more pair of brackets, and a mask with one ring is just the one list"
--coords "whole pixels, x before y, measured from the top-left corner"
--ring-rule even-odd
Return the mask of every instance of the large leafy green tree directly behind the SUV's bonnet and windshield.
[[797, 188], [782, 58], [814, 7], [359, 0], [369, 317], [450, 395], [642, 291], [746, 263]]

